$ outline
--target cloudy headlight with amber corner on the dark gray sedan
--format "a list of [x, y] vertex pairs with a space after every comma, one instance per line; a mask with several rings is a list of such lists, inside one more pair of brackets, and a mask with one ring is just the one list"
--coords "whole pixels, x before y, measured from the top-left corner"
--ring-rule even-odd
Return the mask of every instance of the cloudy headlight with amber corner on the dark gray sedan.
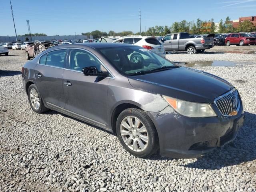
[[187, 117], [215, 117], [217, 116], [210, 104], [194, 103], [189, 101], [178, 100], [168, 96], [163, 98], [179, 114]]

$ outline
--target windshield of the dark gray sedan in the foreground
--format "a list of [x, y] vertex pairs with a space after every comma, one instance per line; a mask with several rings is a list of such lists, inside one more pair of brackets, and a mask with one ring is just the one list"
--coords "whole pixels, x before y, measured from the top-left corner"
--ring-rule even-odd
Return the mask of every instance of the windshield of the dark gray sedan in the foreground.
[[169, 60], [138, 46], [98, 49], [125, 76], [177, 67]]

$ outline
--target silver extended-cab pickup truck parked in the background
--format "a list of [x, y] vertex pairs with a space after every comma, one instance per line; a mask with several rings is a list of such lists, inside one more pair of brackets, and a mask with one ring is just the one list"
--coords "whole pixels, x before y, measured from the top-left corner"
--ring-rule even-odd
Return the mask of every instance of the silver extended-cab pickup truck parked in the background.
[[188, 54], [196, 52], [202, 53], [213, 46], [214, 34], [207, 37], [190, 38], [188, 33], [167, 34], [161, 39], [165, 50], [168, 51], [187, 51]]

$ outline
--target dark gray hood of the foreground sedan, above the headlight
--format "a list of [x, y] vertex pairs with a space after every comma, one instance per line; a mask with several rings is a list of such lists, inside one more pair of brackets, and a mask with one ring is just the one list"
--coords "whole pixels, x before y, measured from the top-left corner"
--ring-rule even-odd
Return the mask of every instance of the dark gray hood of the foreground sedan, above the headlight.
[[213, 103], [234, 86], [212, 74], [180, 67], [150, 74], [129, 76], [132, 87], [181, 100]]

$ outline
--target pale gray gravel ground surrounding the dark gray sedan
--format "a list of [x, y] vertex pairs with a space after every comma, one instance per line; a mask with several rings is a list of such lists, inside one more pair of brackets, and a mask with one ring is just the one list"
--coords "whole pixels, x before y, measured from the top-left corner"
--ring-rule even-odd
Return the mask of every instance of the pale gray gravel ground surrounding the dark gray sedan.
[[[0, 56], [0, 191], [256, 191], [256, 68], [199, 67], [238, 88], [246, 111], [237, 139], [201, 159], [135, 158], [100, 128], [49, 111], [23, 91], [24, 51]], [[172, 61], [256, 62], [249, 54], [171, 54]]]

